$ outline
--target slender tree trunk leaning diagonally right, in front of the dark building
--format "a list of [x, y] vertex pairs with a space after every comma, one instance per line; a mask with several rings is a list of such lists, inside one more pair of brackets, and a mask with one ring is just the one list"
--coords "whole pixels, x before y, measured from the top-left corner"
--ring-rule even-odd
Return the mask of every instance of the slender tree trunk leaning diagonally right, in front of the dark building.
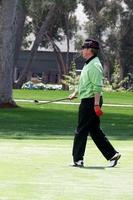
[[29, 56], [29, 59], [26, 63], [26, 66], [24, 67], [19, 79], [16, 81], [16, 88], [21, 88], [22, 84], [26, 81], [26, 75], [29, 70], [32, 68], [32, 61], [33, 58], [38, 50], [39, 44], [42, 42], [44, 35], [47, 33], [47, 30], [49, 29], [50, 26], [53, 25], [54, 23], [54, 16], [55, 12], [57, 12], [58, 8], [56, 5], [52, 6], [51, 9], [48, 12], [48, 15], [45, 19], [45, 21], [42, 23], [42, 26], [36, 36], [36, 39], [34, 41], [34, 44], [31, 49], [31, 53]]

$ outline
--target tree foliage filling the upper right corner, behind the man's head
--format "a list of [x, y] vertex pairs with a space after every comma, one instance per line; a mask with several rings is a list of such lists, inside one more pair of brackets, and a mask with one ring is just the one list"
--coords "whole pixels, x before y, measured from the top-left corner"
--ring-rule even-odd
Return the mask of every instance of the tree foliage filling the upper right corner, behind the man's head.
[[81, 0], [88, 22], [85, 30], [88, 37], [98, 39], [108, 62], [109, 76], [115, 59], [120, 66], [120, 77], [133, 72], [133, 1]]

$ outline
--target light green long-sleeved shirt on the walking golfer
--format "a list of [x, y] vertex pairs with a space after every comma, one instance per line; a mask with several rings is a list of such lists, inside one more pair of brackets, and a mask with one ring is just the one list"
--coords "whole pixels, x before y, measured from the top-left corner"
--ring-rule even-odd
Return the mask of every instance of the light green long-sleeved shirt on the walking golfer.
[[102, 94], [103, 68], [98, 57], [94, 57], [84, 65], [79, 85], [78, 94], [80, 99], [94, 97], [96, 93]]

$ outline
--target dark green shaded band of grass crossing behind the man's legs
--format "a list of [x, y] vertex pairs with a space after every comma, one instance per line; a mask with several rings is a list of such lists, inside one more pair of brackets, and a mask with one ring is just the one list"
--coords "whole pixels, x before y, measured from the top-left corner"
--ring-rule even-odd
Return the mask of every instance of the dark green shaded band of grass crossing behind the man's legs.
[[[70, 106], [23, 107], [0, 110], [0, 137], [16, 139], [68, 139], [74, 135], [77, 108]], [[129, 112], [106, 113], [102, 128], [111, 139], [133, 139]]]

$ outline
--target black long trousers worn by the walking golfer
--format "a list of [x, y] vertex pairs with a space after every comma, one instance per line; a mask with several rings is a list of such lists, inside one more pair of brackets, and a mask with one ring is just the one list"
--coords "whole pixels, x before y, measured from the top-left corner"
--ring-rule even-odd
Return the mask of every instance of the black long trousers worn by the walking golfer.
[[[100, 99], [102, 106], [102, 97]], [[110, 160], [117, 152], [100, 128], [100, 118], [94, 111], [94, 98], [82, 99], [79, 106], [78, 127], [73, 144], [73, 160], [83, 160], [87, 136], [90, 134], [92, 140], [101, 151], [103, 156]]]

